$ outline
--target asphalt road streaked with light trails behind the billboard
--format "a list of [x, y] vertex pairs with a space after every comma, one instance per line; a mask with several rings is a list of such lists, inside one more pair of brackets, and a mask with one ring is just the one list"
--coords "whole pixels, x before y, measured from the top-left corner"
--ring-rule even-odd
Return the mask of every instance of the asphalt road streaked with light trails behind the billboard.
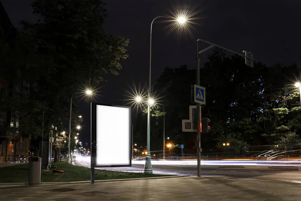
[[[89, 159], [84, 157], [77, 157], [75, 165], [90, 167]], [[177, 161], [175, 161], [177, 163]], [[144, 161], [132, 161], [131, 167], [106, 167], [97, 168], [113, 171], [130, 171], [143, 172]], [[269, 168], [268, 166], [201, 166], [201, 175], [204, 176], [227, 176], [234, 178], [250, 178], [264, 175], [273, 175], [291, 171], [285, 167]], [[197, 175], [197, 166], [194, 164], [162, 164], [156, 162], [153, 164], [153, 173], [156, 174], [176, 174], [176, 175]]]

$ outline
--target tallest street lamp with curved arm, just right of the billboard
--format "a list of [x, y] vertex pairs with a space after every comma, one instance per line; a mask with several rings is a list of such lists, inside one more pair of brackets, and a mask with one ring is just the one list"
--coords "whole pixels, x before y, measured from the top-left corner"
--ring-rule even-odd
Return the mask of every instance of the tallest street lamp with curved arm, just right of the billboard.
[[[146, 174], [152, 174], [153, 168], [152, 168], [152, 156], [150, 156], [150, 105], [151, 97], [150, 97], [150, 86], [151, 86], [151, 77], [152, 77], [152, 30], [153, 30], [153, 23], [158, 18], [170, 18], [170, 17], [164, 17], [164, 16], [158, 16], [156, 17], [152, 23], [150, 24], [150, 40], [149, 40], [149, 77], [148, 77], [148, 105], [147, 105], [147, 155], [145, 157], [145, 165], [144, 165], [144, 173]], [[177, 23], [178, 25], [185, 25], [186, 23], [186, 16], [177, 16]], [[154, 104], [154, 103], [153, 103]]]

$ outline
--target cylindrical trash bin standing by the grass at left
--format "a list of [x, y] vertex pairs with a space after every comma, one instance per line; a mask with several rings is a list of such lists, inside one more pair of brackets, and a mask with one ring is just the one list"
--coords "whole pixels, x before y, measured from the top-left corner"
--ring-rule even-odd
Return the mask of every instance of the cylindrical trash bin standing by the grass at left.
[[28, 183], [30, 185], [41, 183], [41, 157], [31, 157], [29, 159]]

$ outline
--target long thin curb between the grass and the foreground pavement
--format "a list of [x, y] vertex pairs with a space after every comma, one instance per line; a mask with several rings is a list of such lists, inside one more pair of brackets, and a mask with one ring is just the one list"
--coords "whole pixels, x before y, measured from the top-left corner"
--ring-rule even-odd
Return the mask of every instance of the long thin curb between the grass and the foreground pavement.
[[[128, 179], [107, 179], [107, 180], [95, 180], [95, 183], [102, 182], [116, 182], [116, 181], [131, 181], [142, 179], [163, 179], [163, 178], [177, 178], [177, 177], [189, 177], [190, 175], [175, 175], [175, 176], [158, 176], [158, 177], [146, 177], [146, 178], [128, 178]], [[66, 185], [77, 183], [91, 183], [91, 181], [68, 181], [68, 182], [41, 182], [40, 184], [29, 185], [28, 183], [0, 183], [0, 189], [7, 188], [20, 188], [20, 187], [37, 187], [37, 186], [50, 186], [50, 185]], [[4, 187], [1, 187], [4, 185]]]

